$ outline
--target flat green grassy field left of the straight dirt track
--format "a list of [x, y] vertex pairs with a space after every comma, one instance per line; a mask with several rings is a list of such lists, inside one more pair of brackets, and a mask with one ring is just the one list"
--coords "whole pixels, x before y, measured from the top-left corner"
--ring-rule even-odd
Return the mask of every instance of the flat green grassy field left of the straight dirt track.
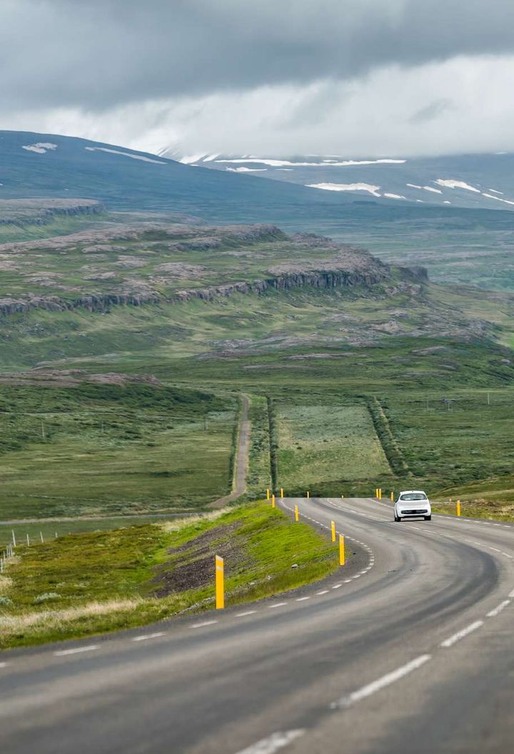
[[153, 385], [2, 385], [0, 520], [203, 507], [230, 486], [236, 408]]

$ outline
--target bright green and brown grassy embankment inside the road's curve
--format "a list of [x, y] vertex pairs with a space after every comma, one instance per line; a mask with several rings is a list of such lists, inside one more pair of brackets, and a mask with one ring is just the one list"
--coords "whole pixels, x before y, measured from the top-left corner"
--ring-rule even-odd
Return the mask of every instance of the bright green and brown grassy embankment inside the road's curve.
[[228, 605], [299, 587], [338, 568], [328, 538], [265, 503], [192, 522], [25, 545], [0, 577], [0, 648], [127, 629], [210, 608], [215, 554], [225, 559]]

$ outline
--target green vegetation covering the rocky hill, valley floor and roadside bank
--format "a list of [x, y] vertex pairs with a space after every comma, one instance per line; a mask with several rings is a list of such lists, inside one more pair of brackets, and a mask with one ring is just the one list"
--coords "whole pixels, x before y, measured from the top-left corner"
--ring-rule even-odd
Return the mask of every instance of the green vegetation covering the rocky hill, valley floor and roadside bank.
[[[5, 645], [210, 605], [188, 561], [210, 563], [214, 545], [230, 546], [233, 600], [329, 572], [325, 540], [286, 533], [262, 505], [170, 531], [230, 491], [241, 394], [249, 504], [271, 486], [421, 487], [512, 516], [506, 294], [268, 225], [88, 227], [0, 253], [0, 544], [13, 529], [20, 544], [2, 581]], [[287, 539], [300, 535], [314, 539]]]

